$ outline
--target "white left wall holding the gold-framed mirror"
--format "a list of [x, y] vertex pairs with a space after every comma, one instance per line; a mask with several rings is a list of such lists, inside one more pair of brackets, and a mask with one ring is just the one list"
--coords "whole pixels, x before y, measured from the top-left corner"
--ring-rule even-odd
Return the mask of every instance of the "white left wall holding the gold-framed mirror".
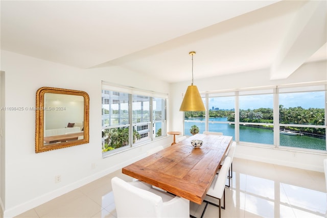
[[[83, 70], [7, 51], [1, 51], [1, 70], [6, 75], [5, 93], [2, 93], [6, 107], [35, 107], [36, 91], [43, 86], [83, 90], [90, 98], [89, 143], [37, 154], [35, 111], [6, 111], [0, 160], [1, 204], [5, 207], [5, 217], [15, 216], [105, 176], [141, 158], [146, 150], [159, 144], [168, 146], [172, 141], [167, 137], [102, 158], [101, 81], [161, 93], [169, 93], [168, 83], [120, 67]], [[61, 175], [60, 183], [55, 183], [56, 175]]]

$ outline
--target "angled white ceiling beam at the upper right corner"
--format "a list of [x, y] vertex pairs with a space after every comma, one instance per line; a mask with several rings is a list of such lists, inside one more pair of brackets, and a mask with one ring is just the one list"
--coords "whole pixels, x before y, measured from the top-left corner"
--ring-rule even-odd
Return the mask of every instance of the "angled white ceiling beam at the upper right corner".
[[326, 43], [326, 9], [326, 1], [308, 1], [297, 12], [271, 65], [271, 80], [288, 78]]

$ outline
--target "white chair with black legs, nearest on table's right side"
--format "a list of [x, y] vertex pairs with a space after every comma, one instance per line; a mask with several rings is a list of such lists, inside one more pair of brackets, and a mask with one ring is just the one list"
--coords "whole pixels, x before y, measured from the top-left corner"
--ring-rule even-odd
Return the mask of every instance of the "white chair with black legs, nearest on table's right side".
[[[206, 192], [206, 197], [203, 200], [203, 202], [205, 202], [206, 204], [201, 217], [203, 217], [208, 204], [219, 207], [219, 218], [221, 217], [221, 208], [225, 209], [225, 187], [226, 187], [225, 184], [226, 184], [226, 178], [227, 178], [229, 166], [230, 166], [230, 157], [226, 157], [224, 160], [224, 164], [220, 169], [219, 174], [215, 176], [215, 179], [212, 182], [211, 186], [209, 187], [209, 190]], [[218, 199], [219, 205], [208, 201], [207, 197]], [[221, 205], [222, 198], [224, 199], [223, 206]]]

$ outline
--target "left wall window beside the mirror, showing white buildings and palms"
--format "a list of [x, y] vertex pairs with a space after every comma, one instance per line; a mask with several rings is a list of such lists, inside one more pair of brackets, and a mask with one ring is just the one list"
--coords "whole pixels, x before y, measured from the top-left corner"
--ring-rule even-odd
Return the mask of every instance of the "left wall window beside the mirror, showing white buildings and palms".
[[166, 135], [167, 94], [107, 83], [102, 88], [103, 156]]

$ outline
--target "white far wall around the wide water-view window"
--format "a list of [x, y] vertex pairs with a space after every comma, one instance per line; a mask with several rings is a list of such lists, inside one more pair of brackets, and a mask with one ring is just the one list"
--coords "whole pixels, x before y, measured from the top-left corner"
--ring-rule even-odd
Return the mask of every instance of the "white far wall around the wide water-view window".
[[[200, 73], [200, 72], [199, 72]], [[299, 67], [289, 78], [285, 80], [270, 80], [269, 69], [260, 69], [249, 72], [240, 72], [234, 75], [226, 75], [207, 79], [195, 79], [196, 85], [200, 92], [249, 88], [270, 85], [282, 85], [291, 83], [306, 83], [327, 81], [327, 64], [326, 61], [312, 62]], [[174, 131], [183, 132], [183, 113], [179, 111], [182, 101], [182, 93], [191, 85], [187, 82], [171, 84], [170, 99], [170, 127]], [[287, 150], [277, 150], [268, 148], [258, 148], [253, 146], [238, 145], [236, 157], [250, 160], [259, 160], [269, 163], [275, 163], [286, 166], [293, 166], [313, 171], [323, 172], [323, 159], [327, 158], [325, 154], [308, 154], [303, 152], [294, 152]]]

